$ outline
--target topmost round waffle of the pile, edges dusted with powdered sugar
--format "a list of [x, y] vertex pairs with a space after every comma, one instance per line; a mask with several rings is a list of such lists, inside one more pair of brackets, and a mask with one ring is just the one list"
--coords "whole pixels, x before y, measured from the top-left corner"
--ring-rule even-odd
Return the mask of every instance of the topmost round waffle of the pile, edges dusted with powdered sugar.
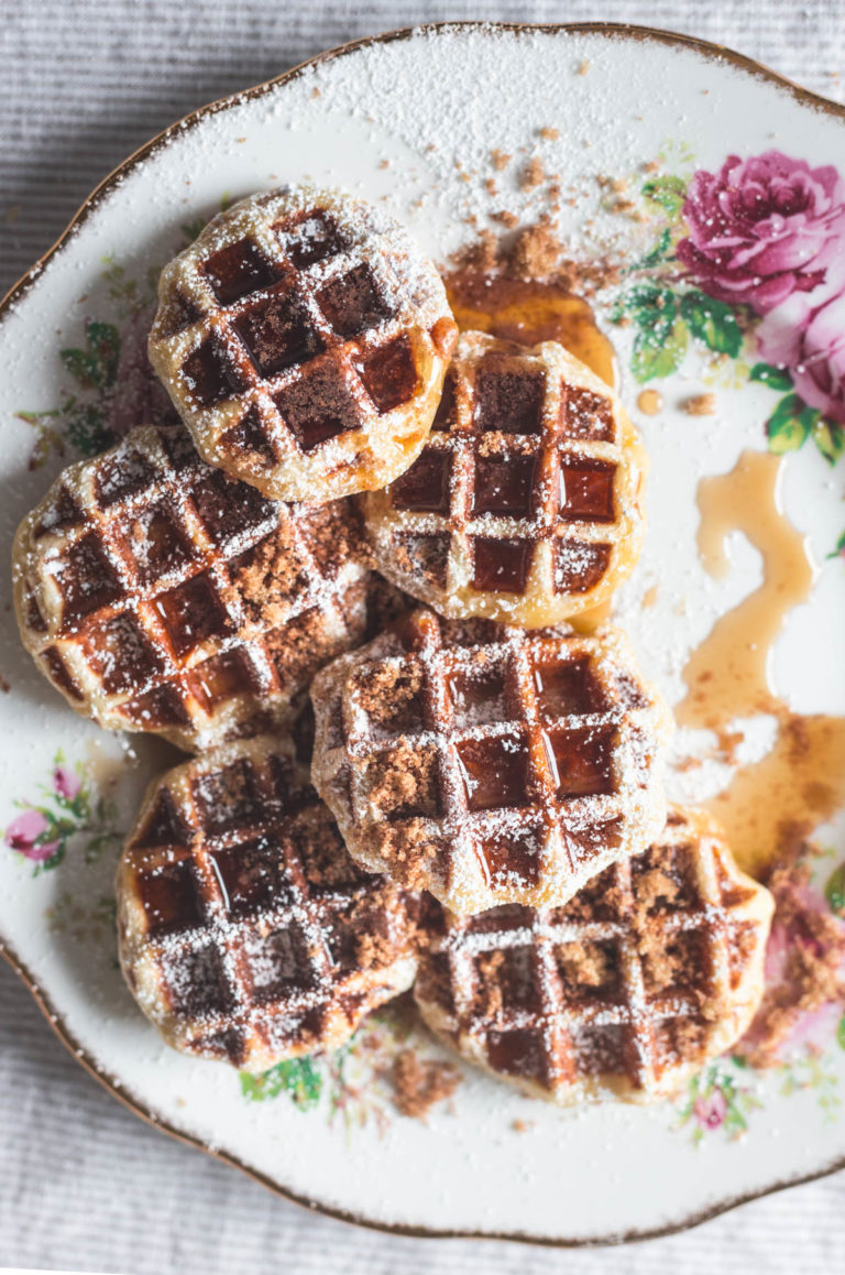
[[418, 454], [456, 328], [384, 212], [292, 187], [164, 269], [149, 356], [203, 456], [275, 500], [384, 487]]

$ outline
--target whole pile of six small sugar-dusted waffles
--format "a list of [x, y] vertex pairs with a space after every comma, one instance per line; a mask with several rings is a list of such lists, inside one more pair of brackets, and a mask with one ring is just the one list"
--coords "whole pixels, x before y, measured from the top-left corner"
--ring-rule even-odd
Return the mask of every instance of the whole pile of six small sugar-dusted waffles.
[[405, 231], [306, 187], [209, 223], [149, 348], [184, 427], [65, 470], [15, 543], [70, 705], [195, 754], [119, 866], [140, 1007], [264, 1071], [413, 987], [531, 1094], [670, 1094], [748, 1025], [771, 900], [667, 808], [625, 635], [568, 623], [642, 541], [616, 395], [553, 342], [456, 343]]

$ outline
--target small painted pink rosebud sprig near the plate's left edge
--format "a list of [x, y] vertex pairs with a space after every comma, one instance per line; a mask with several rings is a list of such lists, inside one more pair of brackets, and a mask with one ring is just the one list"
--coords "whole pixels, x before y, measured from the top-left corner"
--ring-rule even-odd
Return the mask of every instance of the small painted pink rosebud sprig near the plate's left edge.
[[57, 867], [74, 838], [84, 838], [87, 863], [121, 839], [113, 802], [99, 796], [83, 762], [70, 769], [57, 752], [50, 784], [40, 784], [42, 799], [18, 801], [20, 815], [11, 820], [4, 841], [22, 861], [34, 864], [33, 875]]

